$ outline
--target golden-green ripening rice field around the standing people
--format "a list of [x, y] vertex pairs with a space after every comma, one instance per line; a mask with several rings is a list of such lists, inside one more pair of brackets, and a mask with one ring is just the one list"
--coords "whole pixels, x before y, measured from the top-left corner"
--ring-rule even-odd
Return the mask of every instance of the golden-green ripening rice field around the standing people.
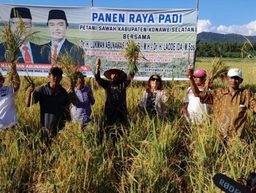
[[[207, 69], [206, 59], [200, 61], [195, 67]], [[256, 76], [250, 75], [254, 63], [231, 63], [229, 66], [242, 68], [245, 79], [241, 87], [255, 89]], [[99, 132], [105, 129], [105, 96], [97, 83], [93, 89], [95, 124], [83, 130], [79, 124], [67, 123], [47, 147], [40, 129], [39, 104], [25, 107], [26, 82], [21, 81], [15, 98], [19, 124], [15, 130], [0, 131], [0, 192], [212, 193], [221, 192], [212, 181], [215, 173], [235, 179], [248, 177], [255, 169], [256, 117], [248, 115], [249, 143], [234, 139], [219, 151], [219, 135], [211, 116], [201, 126], [180, 119], [187, 81], [163, 83], [165, 90], [175, 92], [175, 101], [165, 119], [156, 120], [136, 112], [146, 82], [135, 81], [128, 87], [129, 121], [120, 128], [124, 135], [115, 147], [108, 136], [99, 142]], [[35, 79], [36, 85], [46, 82], [47, 78]], [[67, 78], [62, 86], [69, 86]]]

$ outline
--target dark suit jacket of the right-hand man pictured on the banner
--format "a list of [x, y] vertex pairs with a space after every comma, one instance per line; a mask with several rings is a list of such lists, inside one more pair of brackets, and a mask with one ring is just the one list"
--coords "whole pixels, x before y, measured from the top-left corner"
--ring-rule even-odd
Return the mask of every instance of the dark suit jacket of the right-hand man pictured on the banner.
[[[44, 64], [51, 64], [51, 46], [51, 42], [42, 45], [42, 58], [44, 59]], [[61, 46], [58, 56], [60, 53], [61, 55], [65, 54], [66, 51], [70, 54], [74, 61], [78, 60], [79, 65], [84, 65], [84, 50], [82, 48], [79, 48], [66, 39]]]

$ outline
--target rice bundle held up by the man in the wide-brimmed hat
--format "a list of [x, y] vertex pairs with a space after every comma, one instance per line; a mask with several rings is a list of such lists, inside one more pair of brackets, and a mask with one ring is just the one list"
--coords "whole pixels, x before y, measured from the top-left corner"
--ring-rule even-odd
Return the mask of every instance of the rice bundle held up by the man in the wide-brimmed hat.
[[[147, 60], [140, 51], [140, 48], [138, 46], [138, 44], [136, 44], [133, 39], [130, 39], [127, 44], [126, 47], [123, 47], [123, 56], [125, 57], [125, 59], [128, 62], [128, 69], [130, 70], [131, 73], [138, 73], [138, 59], [142, 58]], [[147, 60], [148, 61], [148, 60]]]

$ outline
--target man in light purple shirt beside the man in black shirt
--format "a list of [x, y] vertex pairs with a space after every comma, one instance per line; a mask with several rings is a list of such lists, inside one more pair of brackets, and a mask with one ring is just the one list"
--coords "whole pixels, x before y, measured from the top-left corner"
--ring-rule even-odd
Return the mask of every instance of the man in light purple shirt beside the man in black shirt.
[[[80, 122], [83, 126], [87, 125], [91, 121], [91, 106], [94, 105], [95, 99], [93, 97], [93, 91], [91, 87], [84, 86], [85, 80], [82, 72], [79, 73], [79, 78], [76, 81], [76, 87], [74, 88], [76, 93], [76, 104], [71, 103], [71, 115], [73, 122]], [[69, 86], [68, 92], [72, 89], [72, 85]]]

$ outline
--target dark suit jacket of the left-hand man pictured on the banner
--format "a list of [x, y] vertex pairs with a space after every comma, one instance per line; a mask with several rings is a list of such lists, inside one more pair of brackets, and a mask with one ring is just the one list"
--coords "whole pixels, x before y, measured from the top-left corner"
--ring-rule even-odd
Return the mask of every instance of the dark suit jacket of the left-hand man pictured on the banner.
[[[32, 52], [32, 57], [33, 57], [33, 62], [34, 64], [43, 64], [43, 60], [42, 60], [42, 55], [41, 55], [41, 48], [42, 46], [36, 45], [32, 42], [30, 43], [30, 47], [31, 47], [31, 52]], [[5, 58], [5, 45], [4, 43], [0, 44], [0, 62], [6, 62], [7, 59]], [[19, 57], [19, 60], [17, 61], [18, 63], [25, 63], [24, 58], [22, 57], [21, 52], [19, 51], [17, 54], [17, 57]], [[30, 56], [31, 57], [31, 56]]]

